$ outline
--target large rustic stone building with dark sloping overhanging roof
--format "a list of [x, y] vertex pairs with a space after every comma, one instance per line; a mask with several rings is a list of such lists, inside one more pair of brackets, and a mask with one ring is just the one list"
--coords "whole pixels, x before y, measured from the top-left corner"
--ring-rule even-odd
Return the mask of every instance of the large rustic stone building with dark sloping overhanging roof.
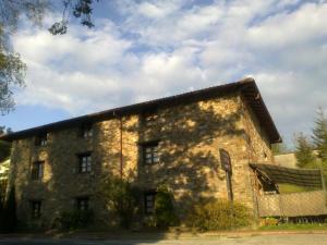
[[228, 198], [219, 149], [229, 152], [233, 198], [255, 210], [250, 162], [274, 162], [280, 136], [255, 81], [209, 87], [87, 114], [21, 132], [13, 143], [10, 182], [17, 216], [49, 224], [63, 210], [92, 208], [110, 223], [96, 195], [105, 176], [132, 180], [150, 213], [155, 189], [173, 193], [181, 217], [199, 198]]

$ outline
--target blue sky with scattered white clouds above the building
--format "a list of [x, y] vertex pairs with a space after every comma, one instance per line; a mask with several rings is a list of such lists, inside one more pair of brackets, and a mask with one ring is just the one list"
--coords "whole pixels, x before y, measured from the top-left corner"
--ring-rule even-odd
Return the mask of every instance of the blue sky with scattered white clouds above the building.
[[20, 131], [249, 76], [289, 146], [327, 109], [326, 0], [101, 0], [94, 28], [72, 21], [52, 36], [60, 15], [13, 35], [26, 87], [1, 125]]

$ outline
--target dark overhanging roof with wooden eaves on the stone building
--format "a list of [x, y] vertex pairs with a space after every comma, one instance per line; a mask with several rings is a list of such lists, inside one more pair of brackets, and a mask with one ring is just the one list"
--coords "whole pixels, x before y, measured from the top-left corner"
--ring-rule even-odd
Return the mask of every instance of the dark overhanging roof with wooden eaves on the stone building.
[[243, 98], [246, 100], [247, 105], [250, 105], [250, 107], [253, 109], [254, 113], [258, 118], [261, 125], [264, 128], [266, 128], [269, 135], [270, 143], [272, 144], [272, 143], [281, 142], [280, 135], [275, 126], [275, 123], [265, 106], [265, 102], [253, 78], [245, 78], [239, 82], [229, 83], [220, 86], [208, 87], [208, 88], [194, 90], [185, 94], [165, 97], [161, 99], [155, 99], [146, 102], [135, 103], [131, 106], [105, 110], [97, 113], [86, 114], [86, 115], [82, 115], [69, 120], [63, 120], [60, 122], [55, 122], [55, 123], [24, 130], [24, 131], [19, 131], [8, 135], [2, 135], [0, 136], [0, 139], [14, 140], [17, 138], [29, 137], [45, 131], [66, 128], [75, 125], [81, 125], [83, 123], [99, 122], [99, 121], [104, 121], [117, 117], [140, 113], [154, 108], [187, 103], [187, 102], [215, 98], [219, 96], [225, 96], [229, 93], [235, 93], [235, 91], [241, 91], [243, 94]]

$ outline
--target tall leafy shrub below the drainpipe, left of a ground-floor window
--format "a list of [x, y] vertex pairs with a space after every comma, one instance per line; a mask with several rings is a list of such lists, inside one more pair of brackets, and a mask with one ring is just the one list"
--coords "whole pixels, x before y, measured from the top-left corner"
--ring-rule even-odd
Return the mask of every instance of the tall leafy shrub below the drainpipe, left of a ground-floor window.
[[138, 211], [140, 191], [129, 181], [116, 177], [104, 180], [100, 195], [109, 209], [119, 218], [122, 228], [129, 229]]

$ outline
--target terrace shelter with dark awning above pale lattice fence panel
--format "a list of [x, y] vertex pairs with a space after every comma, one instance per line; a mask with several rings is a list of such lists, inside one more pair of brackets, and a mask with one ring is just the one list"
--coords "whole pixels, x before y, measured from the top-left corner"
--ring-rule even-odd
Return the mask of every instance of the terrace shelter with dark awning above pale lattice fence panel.
[[[272, 191], [255, 192], [259, 217], [327, 215], [325, 184], [320, 170], [291, 169], [263, 163], [251, 163], [250, 167], [255, 171], [262, 184]], [[278, 184], [306, 186], [316, 191], [279, 194]]]

